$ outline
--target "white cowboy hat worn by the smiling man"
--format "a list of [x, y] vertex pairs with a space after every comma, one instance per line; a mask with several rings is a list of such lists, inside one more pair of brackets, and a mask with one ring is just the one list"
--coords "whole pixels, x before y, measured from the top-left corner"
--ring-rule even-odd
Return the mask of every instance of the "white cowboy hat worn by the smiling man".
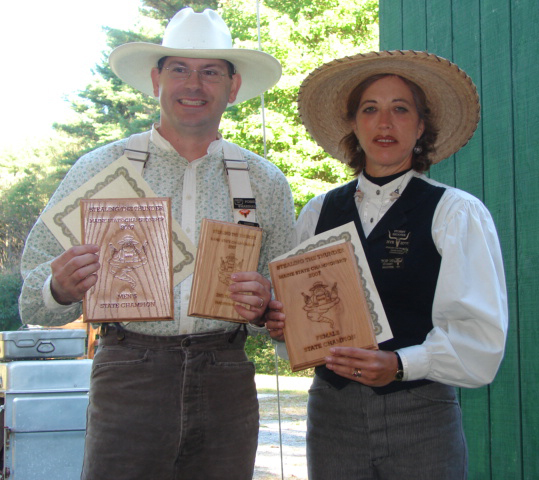
[[[170, 20], [161, 45], [133, 42], [112, 51], [112, 71], [124, 82], [154, 96], [151, 69], [161, 57], [208, 58], [228, 60], [241, 75], [242, 83], [233, 104], [256, 97], [281, 78], [281, 64], [258, 50], [232, 48], [230, 31], [219, 14], [206, 9], [195, 13], [183, 8]], [[231, 105], [233, 105], [231, 104]]]

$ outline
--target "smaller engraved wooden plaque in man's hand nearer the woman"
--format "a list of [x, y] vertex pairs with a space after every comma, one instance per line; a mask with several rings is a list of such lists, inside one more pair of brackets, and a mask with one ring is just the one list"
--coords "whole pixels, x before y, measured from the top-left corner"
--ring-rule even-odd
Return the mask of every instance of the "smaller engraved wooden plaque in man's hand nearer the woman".
[[256, 272], [262, 229], [204, 218], [200, 227], [188, 314], [247, 323], [230, 299], [234, 272]]

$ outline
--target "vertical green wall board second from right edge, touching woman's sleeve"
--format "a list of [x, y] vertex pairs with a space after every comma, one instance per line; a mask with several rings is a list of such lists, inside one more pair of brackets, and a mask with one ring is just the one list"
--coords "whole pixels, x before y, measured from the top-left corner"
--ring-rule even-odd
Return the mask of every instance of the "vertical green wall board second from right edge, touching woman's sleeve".
[[496, 227], [507, 278], [510, 328], [506, 354], [490, 386], [491, 478], [521, 477], [518, 318], [515, 304], [514, 123], [510, 4], [481, 2], [481, 66], [485, 203]]

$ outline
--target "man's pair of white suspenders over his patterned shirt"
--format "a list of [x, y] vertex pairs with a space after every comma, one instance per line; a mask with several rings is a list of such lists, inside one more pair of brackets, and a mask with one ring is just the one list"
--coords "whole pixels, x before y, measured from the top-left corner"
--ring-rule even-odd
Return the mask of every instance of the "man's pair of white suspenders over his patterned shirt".
[[[142, 175], [150, 156], [151, 132], [136, 133], [127, 140], [124, 155], [133, 167]], [[232, 198], [234, 222], [258, 227], [256, 221], [256, 200], [249, 179], [249, 163], [241, 149], [223, 140], [223, 164], [227, 173], [228, 188]]]

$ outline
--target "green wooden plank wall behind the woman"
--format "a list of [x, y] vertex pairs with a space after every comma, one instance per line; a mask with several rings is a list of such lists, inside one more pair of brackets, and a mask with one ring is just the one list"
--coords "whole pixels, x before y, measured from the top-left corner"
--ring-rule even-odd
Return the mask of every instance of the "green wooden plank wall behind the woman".
[[380, 48], [457, 63], [481, 97], [472, 141], [431, 176], [481, 198], [500, 236], [510, 333], [496, 380], [462, 389], [471, 480], [539, 479], [539, 2], [380, 0]]

